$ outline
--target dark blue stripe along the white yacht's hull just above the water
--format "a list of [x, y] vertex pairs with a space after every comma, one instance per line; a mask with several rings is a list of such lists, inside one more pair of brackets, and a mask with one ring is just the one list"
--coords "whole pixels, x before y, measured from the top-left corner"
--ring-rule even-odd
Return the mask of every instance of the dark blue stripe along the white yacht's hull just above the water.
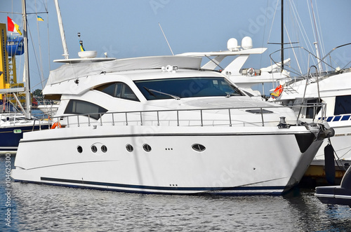
[[107, 182], [89, 182], [84, 180], [76, 179], [58, 179], [50, 177], [41, 177], [41, 181], [49, 182], [62, 182], [69, 184], [89, 184], [95, 186], [111, 186], [119, 188], [128, 189], [149, 189], [149, 190], [163, 190], [163, 191], [227, 191], [227, 190], [284, 190], [285, 186], [260, 186], [260, 187], [247, 187], [247, 186], [237, 186], [228, 188], [211, 188], [211, 187], [178, 187], [178, 186], [144, 186], [144, 185], [133, 185], [133, 184], [114, 184]]

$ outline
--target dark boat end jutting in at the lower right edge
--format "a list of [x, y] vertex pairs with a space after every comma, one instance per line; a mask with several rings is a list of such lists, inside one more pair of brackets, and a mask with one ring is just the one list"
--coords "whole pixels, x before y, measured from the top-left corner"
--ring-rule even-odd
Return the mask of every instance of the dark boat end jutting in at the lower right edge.
[[320, 186], [314, 196], [325, 204], [348, 205], [351, 207], [351, 168], [345, 172], [340, 186]]

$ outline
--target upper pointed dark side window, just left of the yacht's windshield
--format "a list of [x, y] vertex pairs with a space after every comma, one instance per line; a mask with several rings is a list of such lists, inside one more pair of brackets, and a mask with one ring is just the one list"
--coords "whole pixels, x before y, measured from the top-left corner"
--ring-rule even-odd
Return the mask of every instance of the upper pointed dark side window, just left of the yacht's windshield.
[[115, 82], [108, 83], [103, 86], [95, 88], [96, 90], [101, 91], [102, 93], [107, 93], [112, 97], [122, 98], [126, 100], [139, 101], [138, 97], [133, 93], [133, 90], [125, 83]]

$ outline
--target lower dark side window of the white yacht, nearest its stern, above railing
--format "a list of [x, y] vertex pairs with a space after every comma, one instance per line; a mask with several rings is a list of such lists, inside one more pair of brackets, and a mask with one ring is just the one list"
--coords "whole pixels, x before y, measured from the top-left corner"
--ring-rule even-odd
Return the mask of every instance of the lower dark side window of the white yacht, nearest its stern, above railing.
[[106, 112], [107, 109], [104, 107], [100, 107], [97, 104], [81, 100], [69, 100], [65, 109], [65, 114], [89, 114], [89, 116], [95, 120], [98, 120], [100, 116]]

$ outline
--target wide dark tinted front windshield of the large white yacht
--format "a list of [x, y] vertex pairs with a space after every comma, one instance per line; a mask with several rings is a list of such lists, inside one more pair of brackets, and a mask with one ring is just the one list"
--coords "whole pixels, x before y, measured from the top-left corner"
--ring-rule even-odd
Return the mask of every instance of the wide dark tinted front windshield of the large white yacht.
[[243, 96], [241, 91], [223, 77], [187, 77], [134, 81], [147, 100], [176, 97]]

